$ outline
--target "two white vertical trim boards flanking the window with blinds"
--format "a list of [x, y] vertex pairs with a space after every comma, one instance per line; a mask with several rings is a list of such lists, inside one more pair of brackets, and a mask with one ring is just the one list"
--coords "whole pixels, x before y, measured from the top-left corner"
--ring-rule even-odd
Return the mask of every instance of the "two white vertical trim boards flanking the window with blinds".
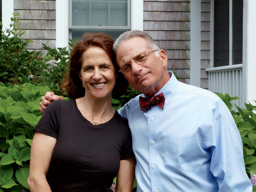
[[[67, 47], [69, 0], [56, 0], [56, 47]], [[131, 30], [143, 31], [143, 0], [131, 0]]]

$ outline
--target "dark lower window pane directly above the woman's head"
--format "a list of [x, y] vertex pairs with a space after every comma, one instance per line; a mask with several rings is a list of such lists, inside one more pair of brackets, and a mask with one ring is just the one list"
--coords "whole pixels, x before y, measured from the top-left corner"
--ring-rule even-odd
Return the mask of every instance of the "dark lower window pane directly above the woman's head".
[[117, 37], [119, 37], [120, 34], [122, 34], [123, 32], [126, 32], [127, 30], [106, 30], [106, 29], [102, 29], [102, 30], [96, 30], [96, 29], [72, 29], [72, 39], [76, 39], [76, 38], [81, 38], [82, 35], [85, 32], [104, 32], [104, 33], [108, 33], [112, 36], [112, 38], [114, 40], [117, 39]]

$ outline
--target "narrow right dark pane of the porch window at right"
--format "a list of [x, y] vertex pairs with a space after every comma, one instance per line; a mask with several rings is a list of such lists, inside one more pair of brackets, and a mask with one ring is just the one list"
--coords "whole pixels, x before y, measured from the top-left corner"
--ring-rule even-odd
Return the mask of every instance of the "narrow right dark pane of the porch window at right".
[[243, 63], [243, 0], [233, 0], [233, 62]]

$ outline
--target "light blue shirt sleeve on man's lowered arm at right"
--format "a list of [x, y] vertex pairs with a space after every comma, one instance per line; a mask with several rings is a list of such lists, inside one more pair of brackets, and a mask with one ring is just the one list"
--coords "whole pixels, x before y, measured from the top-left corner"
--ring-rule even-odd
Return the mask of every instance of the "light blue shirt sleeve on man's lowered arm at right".
[[213, 118], [210, 171], [218, 182], [219, 192], [251, 192], [252, 184], [245, 172], [242, 139], [223, 101], [216, 102]]

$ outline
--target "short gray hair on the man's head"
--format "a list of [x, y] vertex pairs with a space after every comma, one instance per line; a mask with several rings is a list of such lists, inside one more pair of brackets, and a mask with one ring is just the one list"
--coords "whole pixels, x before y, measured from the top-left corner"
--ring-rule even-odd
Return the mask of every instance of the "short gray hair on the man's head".
[[[114, 52], [117, 53], [117, 49], [122, 42], [127, 41], [133, 37], [141, 37], [147, 41], [149, 47], [152, 50], [160, 50], [159, 47], [157, 46], [157, 44], [154, 42], [154, 40], [146, 32], [139, 31], [139, 30], [132, 30], [132, 31], [127, 31], [127, 32], [122, 33], [117, 38], [116, 42], [113, 45]], [[136, 45], [134, 45], [134, 46], [136, 46]]]

